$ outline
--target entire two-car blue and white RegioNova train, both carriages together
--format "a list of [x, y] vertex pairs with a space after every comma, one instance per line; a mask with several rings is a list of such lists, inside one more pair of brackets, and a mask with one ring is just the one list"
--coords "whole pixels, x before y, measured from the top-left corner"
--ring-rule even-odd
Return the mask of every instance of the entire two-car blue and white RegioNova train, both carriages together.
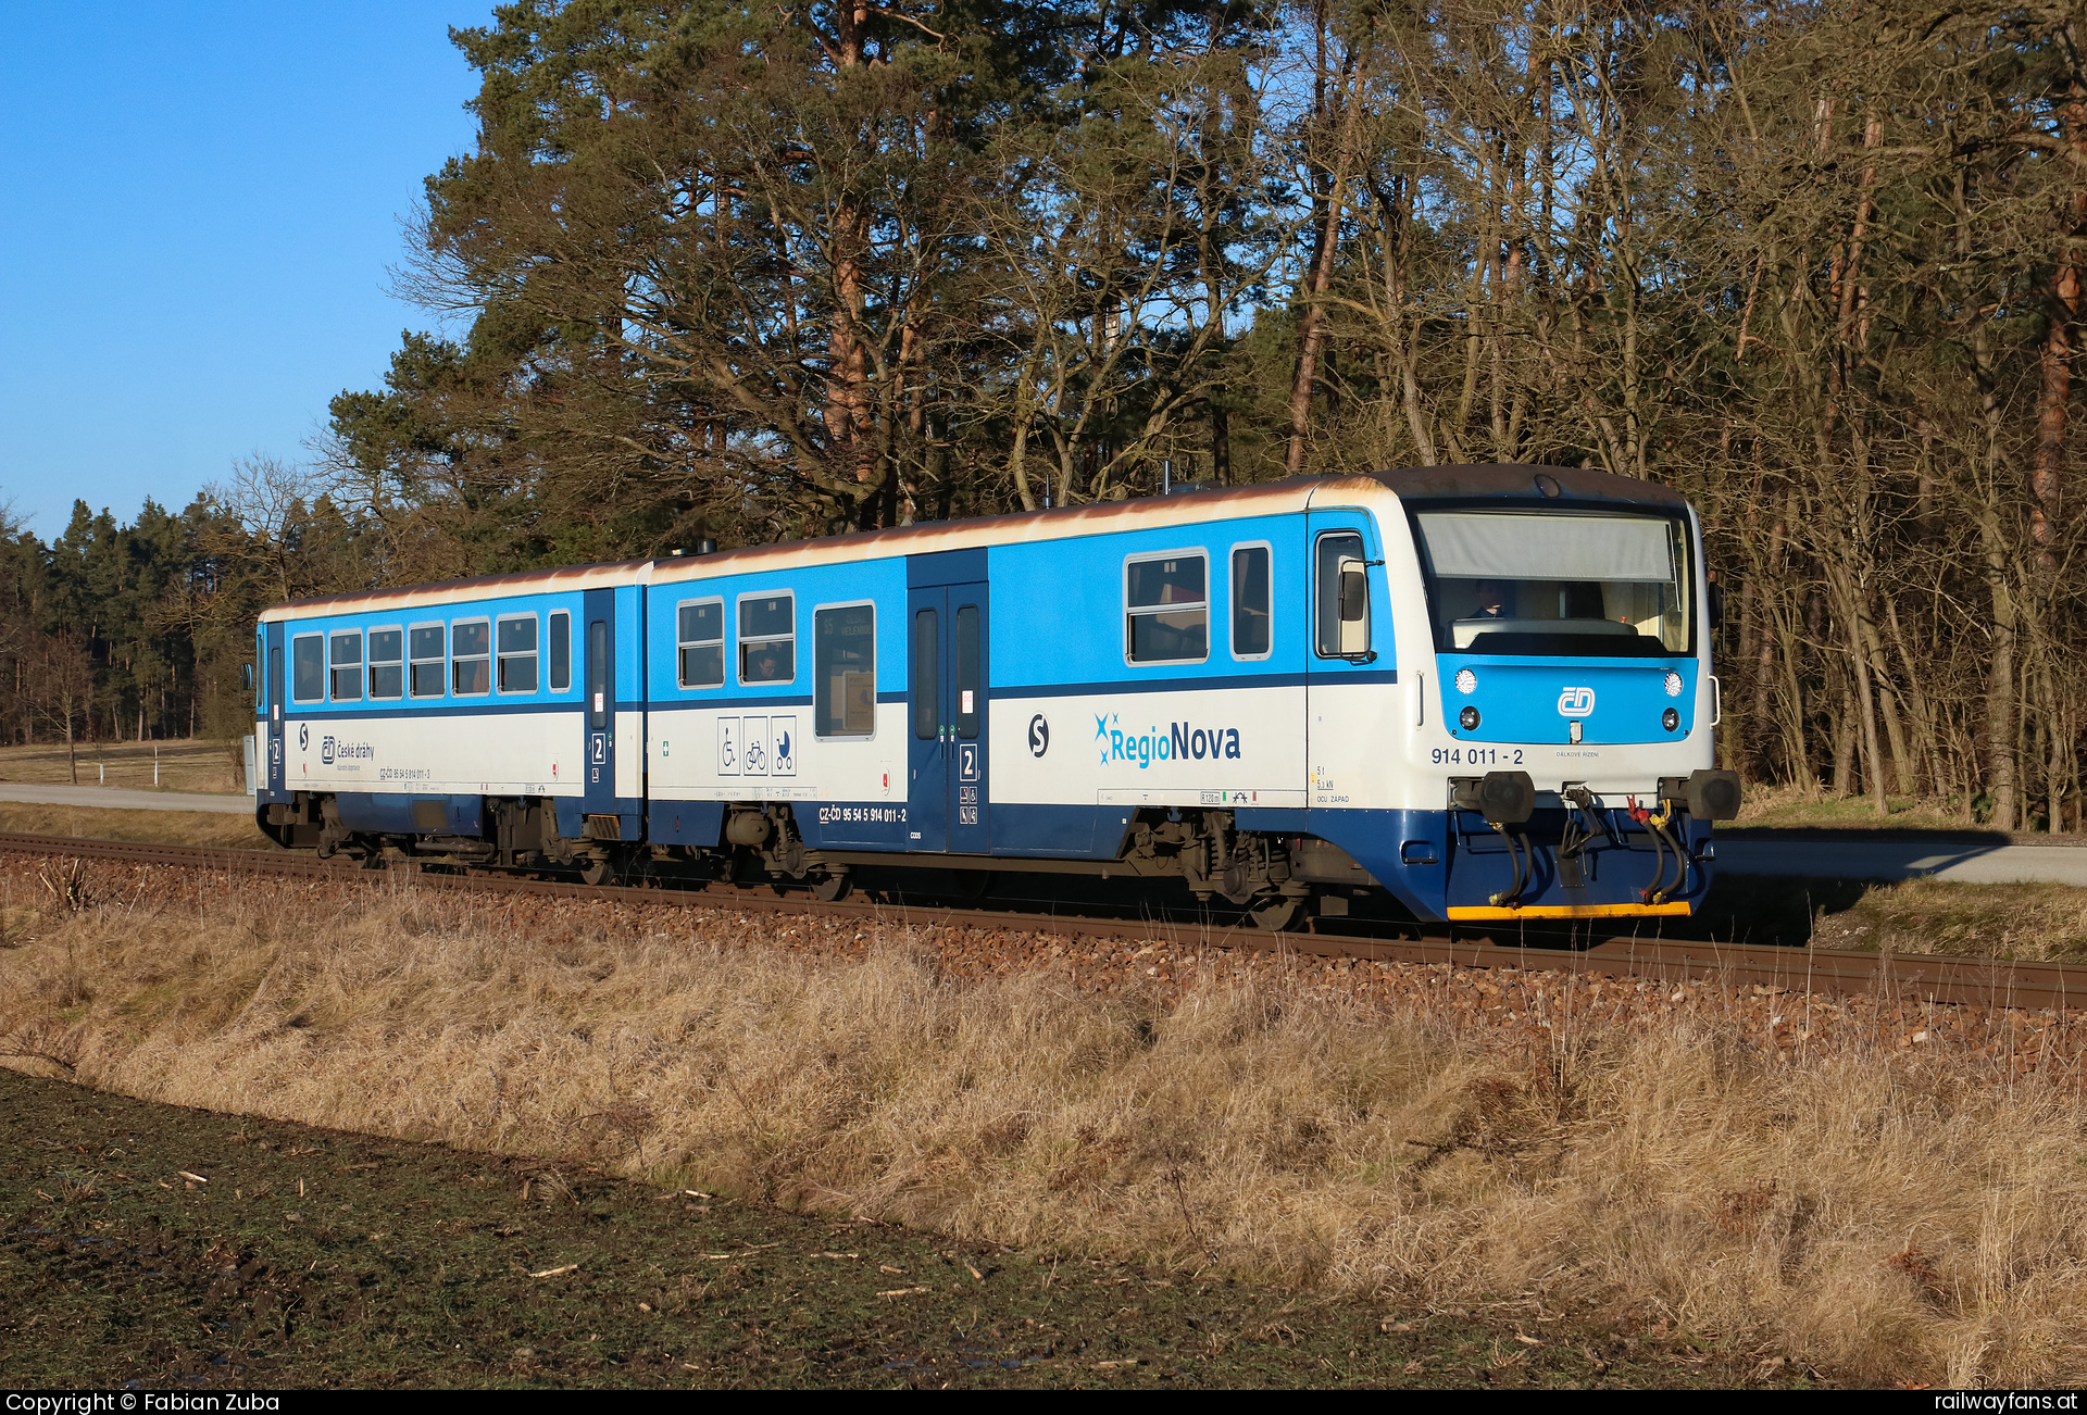
[[[1699, 547], [1647, 482], [1434, 467], [282, 605], [259, 810], [284, 843], [597, 879], [1686, 914], [1736, 810]], [[424, 695], [376, 693], [380, 634]]]

